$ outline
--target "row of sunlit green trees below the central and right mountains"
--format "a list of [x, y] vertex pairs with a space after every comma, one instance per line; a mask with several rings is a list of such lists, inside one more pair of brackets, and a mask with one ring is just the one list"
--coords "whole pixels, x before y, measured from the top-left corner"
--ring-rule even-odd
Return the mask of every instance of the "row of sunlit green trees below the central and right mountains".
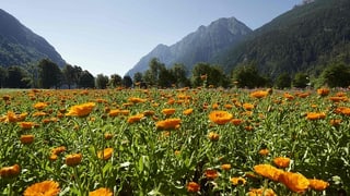
[[350, 85], [350, 66], [342, 61], [334, 61], [325, 66], [319, 75], [308, 75], [305, 72], [296, 74], [282, 73], [275, 77], [261, 75], [254, 62], [237, 65], [230, 74], [225, 74], [222, 66], [209, 63], [197, 63], [191, 73], [183, 64], [166, 68], [158, 59], [152, 59], [149, 70], [136, 73], [135, 82], [143, 82], [158, 87], [198, 87], [203, 85], [221, 87], [276, 87], [276, 88], [305, 88], [307, 86], [348, 87]]

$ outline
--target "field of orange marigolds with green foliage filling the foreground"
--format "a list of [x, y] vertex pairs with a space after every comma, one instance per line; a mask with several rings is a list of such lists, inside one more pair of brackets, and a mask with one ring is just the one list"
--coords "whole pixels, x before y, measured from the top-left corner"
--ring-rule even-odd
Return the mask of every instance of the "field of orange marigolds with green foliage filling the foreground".
[[350, 192], [347, 89], [0, 96], [2, 195]]

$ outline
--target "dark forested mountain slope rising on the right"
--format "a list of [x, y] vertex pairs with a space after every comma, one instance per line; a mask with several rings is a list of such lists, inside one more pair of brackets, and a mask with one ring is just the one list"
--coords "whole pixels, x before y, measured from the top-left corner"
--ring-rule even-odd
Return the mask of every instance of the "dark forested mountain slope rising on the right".
[[254, 30], [217, 57], [229, 73], [254, 62], [272, 78], [280, 73], [318, 75], [334, 60], [350, 63], [350, 1], [308, 0]]

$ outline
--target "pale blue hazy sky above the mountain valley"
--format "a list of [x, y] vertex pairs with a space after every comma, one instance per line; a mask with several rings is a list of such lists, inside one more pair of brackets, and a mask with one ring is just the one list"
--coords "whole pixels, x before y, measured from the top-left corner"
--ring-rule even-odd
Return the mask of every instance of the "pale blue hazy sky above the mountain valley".
[[301, 0], [0, 0], [67, 63], [93, 75], [124, 76], [159, 44], [234, 16], [255, 29]]

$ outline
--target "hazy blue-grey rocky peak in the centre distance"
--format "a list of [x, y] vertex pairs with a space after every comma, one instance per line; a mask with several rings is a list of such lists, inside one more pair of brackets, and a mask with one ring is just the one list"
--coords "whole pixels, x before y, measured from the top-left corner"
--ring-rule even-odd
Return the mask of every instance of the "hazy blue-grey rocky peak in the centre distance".
[[130, 70], [127, 75], [144, 72], [149, 62], [158, 58], [167, 68], [174, 63], [183, 63], [188, 71], [198, 62], [207, 62], [228, 47], [235, 46], [252, 29], [235, 17], [219, 19], [208, 26], [200, 26], [178, 42], [166, 46], [158, 45], [150, 53]]

